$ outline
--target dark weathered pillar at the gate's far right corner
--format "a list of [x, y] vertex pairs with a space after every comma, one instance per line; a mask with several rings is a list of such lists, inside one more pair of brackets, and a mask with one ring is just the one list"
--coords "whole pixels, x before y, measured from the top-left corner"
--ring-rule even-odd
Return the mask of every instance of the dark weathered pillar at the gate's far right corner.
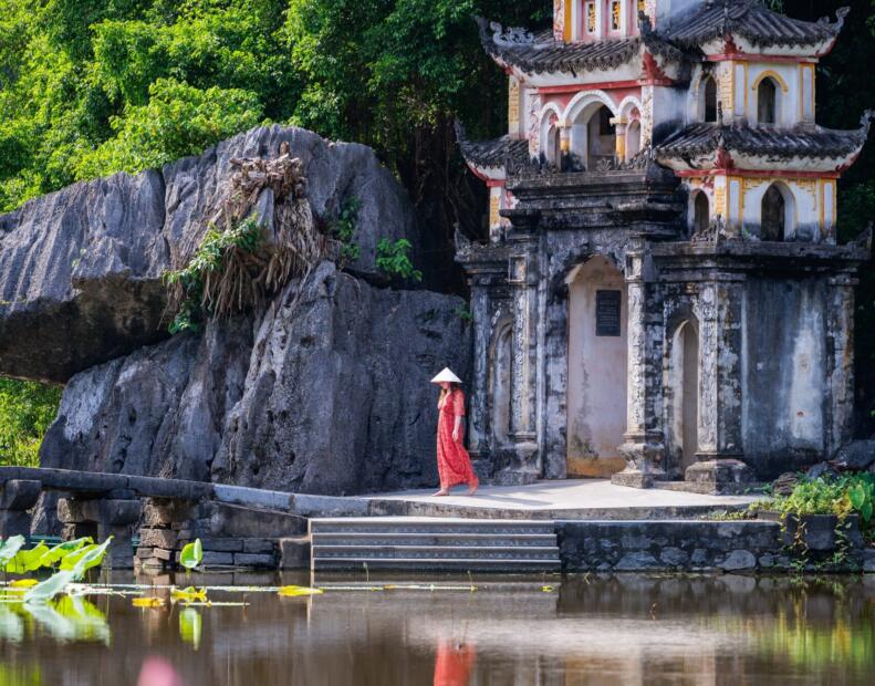
[[827, 458], [833, 458], [854, 437], [854, 287], [857, 283], [850, 274], [833, 277], [827, 282]]

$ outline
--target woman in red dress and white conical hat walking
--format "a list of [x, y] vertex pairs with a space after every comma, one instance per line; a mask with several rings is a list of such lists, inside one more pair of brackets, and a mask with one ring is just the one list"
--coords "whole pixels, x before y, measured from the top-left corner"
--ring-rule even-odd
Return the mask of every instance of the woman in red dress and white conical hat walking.
[[471, 457], [462, 445], [465, 394], [459, 387], [461, 380], [445, 368], [431, 383], [440, 386], [437, 440], [440, 490], [435, 496], [449, 496], [449, 489], [459, 484], [467, 484], [468, 495], [473, 496], [480, 481], [473, 472]]

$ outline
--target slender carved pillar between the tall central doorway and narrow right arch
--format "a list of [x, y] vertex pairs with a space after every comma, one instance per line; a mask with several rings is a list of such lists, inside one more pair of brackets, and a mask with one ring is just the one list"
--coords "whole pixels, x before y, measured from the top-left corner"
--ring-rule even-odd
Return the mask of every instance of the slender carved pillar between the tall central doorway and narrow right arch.
[[645, 278], [648, 256], [643, 239], [629, 241], [626, 252], [626, 292], [628, 298], [628, 372], [626, 392], [626, 434], [619, 453], [626, 468], [614, 475], [618, 486], [649, 488], [654, 480], [665, 479], [663, 433], [654, 422], [654, 403], [662, 373], [662, 355], [654, 350], [648, 326]]

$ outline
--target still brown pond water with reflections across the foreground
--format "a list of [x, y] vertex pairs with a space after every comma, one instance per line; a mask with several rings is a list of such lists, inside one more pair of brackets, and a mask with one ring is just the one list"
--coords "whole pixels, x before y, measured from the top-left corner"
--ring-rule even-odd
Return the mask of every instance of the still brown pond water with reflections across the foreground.
[[[348, 588], [361, 579], [331, 581]], [[177, 679], [149, 686], [875, 684], [873, 576], [476, 578], [473, 592], [429, 590], [434, 581], [310, 597], [209, 591], [211, 601], [246, 606], [138, 609], [112, 595], [41, 610], [2, 605], [0, 685], [135, 685], [150, 657], [164, 662], [152, 662], [156, 677], [169, 664]]]

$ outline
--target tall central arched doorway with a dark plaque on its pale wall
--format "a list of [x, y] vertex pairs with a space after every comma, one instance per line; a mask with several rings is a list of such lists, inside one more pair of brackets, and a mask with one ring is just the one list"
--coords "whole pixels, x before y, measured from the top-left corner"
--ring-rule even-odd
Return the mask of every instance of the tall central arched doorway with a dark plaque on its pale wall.
[[607, 477], [625, 459], [626, 283], [607, 258], [576, 267], [569, 285], [567, 475]]

